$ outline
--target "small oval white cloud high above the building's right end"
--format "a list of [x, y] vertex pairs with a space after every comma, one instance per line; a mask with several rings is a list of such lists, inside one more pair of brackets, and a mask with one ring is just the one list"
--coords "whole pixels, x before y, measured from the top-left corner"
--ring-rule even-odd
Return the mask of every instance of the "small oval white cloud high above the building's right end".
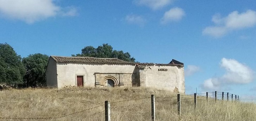
[[166, 24], [171, 21], [179, 21], [185, 16], [183, 9], [175, 7], [165, 12], [164, 16], [161, 19], [162, 24]]

